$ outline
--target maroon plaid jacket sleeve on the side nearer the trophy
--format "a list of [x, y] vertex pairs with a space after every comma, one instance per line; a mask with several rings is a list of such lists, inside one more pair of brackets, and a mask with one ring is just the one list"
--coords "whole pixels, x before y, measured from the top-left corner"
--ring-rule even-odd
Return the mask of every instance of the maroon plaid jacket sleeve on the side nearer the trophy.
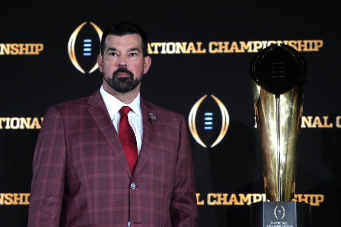
[[196, 227], [195, 178], [192, 151], [184, 116], [181, 117], [175, 178], [170, 200], [172, 227]]

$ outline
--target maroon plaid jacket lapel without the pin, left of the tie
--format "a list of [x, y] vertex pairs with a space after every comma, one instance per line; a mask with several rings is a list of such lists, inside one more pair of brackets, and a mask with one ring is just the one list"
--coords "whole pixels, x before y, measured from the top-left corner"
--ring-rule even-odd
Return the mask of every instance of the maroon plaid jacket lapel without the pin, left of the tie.
[[119, 135], [116, 132], [116, 129], [113, 125], [113, 122], [109, 116], [108, 110], [106, 109], [103, 98], [99, 91], [90, 96], [88, 104], [92, 105], [92, 107], [88, 109], [89, 114], [94, 119], [99, 130], [102, 132], [103, 136], [110, 144], [125, 172], [131, 178], [131, 171], [129, 169], [127, 159], [125, 158]]

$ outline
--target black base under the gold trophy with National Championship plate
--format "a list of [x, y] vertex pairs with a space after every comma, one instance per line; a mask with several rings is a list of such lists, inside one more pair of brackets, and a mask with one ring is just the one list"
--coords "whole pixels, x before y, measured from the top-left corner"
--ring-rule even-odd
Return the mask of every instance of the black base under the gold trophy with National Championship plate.
[[311, 205], [301, 202], [250, 204], [250, 227], [311, 227]]

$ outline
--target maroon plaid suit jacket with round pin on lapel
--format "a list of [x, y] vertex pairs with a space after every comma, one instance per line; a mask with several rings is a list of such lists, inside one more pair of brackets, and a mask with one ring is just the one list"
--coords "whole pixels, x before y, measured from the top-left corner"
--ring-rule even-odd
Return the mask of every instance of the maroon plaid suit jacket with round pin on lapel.
[[143, 99], [141, 109], [132, 175], [99, 91], [49, 108], [34, 153], [29, 227], [197, 226], [185, 119]]

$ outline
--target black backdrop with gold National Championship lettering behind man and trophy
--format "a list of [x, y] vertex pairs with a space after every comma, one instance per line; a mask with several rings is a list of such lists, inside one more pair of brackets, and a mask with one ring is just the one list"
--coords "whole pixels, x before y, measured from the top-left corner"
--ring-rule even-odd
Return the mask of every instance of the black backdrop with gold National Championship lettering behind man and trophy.
[[[98, 69], [88, 73], [99, 52], [98, 34], [90, 22], [103, 30], [121, 20], [141, 25], [154, 46], [150, 49], [152, 65], [141, 88], [146, 100], [189, 120], [195, 103], [207, 95], [194, 119], [198, 135], [193, 136], [189, 130], [200, 227], [248, 226], [248, 204], [264, 194], [249, 73], [257, 53], [254, 46], [291, 41], [298, 48], [297, 43], [306, 42], [306, 47], [300, 49], [308, 69], [303, 104], [306, 121], [297, 148], [296, 194], [299, 201], [313, 205], [313, 226], [341, 226], [341, 35], [336, 6], [312, 1], [275, 5], [101, 1], [1, 3], [1, 227], [26, 226], [32, 157], [47, 108], [87, 96], [100, 87], [102, 76]], [[84, 22], [76, 34], [74, 53], [86, 73], [74, 67], [69, 58], [73, 48], [68, 49], [70, 37]], [[82, 50], [84, 39], [92, 40], [90, 51]], [[177, 42], [187, 42], [188, 53], [172, 53]], [[226, 50], [230, 52], [224, 53], [213, 42], [229, 42]], [[243, 42], [250, 46], [238, 52]], [[157, 48], [159, 53], [155, 51], [156, 43], [165, 43]], [[35, 45], [25, 50], [18, 48], [19, 44]], [[168, 47], [164, 54], [162, 45]], [[211, 51], [210, 45], [214, 47]], [[203, 49], [205, 53], [195, 53]], [[217, 50], [222, 53], [214, 53]], [[32, 54], [34, 51], [38, 54]], [[83, 52], [92, 55], [86, 57]], [[210, 148], [226, 117], [219, 109], [222, 106], [228, 113], [228, 130]], [[212, 113], [213, 119], [205, 120], [205, 113]], [[31, 122], [25, 124], [29, 117]], [[205, 121], [213, 122], [212, 130], [204, 130]]]

